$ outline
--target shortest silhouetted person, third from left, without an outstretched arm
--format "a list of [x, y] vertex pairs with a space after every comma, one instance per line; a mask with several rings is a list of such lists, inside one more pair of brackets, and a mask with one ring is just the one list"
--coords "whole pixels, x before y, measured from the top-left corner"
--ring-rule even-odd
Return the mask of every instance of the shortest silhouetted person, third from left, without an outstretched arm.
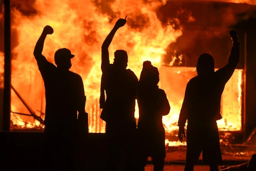
[[138, 143], [139, 170], [144, 170], [147, 158], [152, 158], [154, 171], [163, 171], [165, 131], [162, 116], [170, 111], [164, 90], [158, 88], [159, 72], [150, 61], [143, 63], [137, 94], [139, 106]]

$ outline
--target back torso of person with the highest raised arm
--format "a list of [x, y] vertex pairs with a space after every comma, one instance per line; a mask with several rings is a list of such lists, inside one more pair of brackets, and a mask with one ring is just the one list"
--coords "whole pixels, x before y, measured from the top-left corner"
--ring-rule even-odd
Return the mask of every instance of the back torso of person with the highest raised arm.
[[108, 80], [108, 83], [105, 84], [106, 101], [102, 115], [106, 112], [108, 122], [113, 123], [117, 128], [125, 127], [123, 124], [127, 120], [133, 120], [135, 123], [134, 112], [138, 79], [134, 72], [130, 69], [120, 71], [115, 69], [113, 64], [110, 64], [105, 79]]

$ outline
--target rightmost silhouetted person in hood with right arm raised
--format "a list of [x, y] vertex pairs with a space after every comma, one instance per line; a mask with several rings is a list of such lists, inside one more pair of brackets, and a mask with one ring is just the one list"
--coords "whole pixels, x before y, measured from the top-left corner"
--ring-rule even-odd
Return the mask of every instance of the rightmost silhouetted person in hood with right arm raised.
[[221, 95], [225, 84], [232, 76], [240, 60], [240, 43], [237, 33], [230, 31], [233, 46], [228, 64], [215, 71], [214, 58], [202, 54], [197, 61], [198, 76], [186, 86], [185, 97], [179, 116], [179, 138], [185, 137], [187, 120], [187, 152], [185, 171], [194, 170], [201, 152], [203, 162], [209, 164], [210, 171], [216, 171], [222, 161], [219, 132], [216, 120], [222, 118]]

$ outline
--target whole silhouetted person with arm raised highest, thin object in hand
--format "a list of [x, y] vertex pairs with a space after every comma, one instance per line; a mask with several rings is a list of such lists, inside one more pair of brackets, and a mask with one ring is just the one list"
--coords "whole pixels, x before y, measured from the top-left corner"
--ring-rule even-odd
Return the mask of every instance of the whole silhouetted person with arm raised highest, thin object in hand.
[[123, 162], [123, 157], [125, 170], [134, 170], [134, 112], [138, 79], [132, 70], [126, 69], [128, 56], [124, 50], [114, 53], [113, 64], [110, 64], [108, 50], [116, 31], [125, 23], [125, 19], [119, 19], [101, 47], [101, 118], [106, 121], [108, 170], [112, 171], [117, 170], [120, 162]]

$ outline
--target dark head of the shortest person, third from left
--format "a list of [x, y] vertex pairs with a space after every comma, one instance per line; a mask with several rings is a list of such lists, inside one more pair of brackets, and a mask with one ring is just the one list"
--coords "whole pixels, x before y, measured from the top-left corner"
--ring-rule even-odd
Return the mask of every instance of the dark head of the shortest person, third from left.
[[157, 86], [159, 83], [159, 71], [150, 61], [143, 62], [139, 83], [146, 86]]

